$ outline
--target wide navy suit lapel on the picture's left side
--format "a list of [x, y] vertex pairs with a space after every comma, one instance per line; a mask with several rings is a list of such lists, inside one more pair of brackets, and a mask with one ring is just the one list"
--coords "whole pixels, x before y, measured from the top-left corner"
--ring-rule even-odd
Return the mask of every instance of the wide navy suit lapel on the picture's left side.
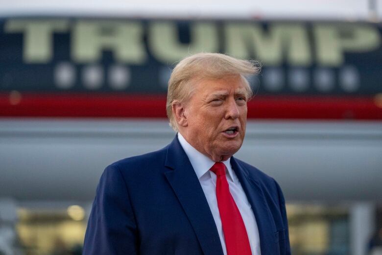
[[175, 137], [167, 147], [166, 178], [194, 229], [205, 255], [222, 255], [223, 250], [207, 199], [191, 162]]

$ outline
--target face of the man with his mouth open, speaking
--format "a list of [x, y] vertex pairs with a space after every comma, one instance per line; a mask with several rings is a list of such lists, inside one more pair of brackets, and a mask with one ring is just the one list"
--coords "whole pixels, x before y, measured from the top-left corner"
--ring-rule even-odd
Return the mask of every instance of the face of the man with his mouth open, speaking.
[[240, 149], [247, 120], [247, 90], [240, 76], [195, 82], [184, 108], [185, 138], [196, 150], [222, 161]]

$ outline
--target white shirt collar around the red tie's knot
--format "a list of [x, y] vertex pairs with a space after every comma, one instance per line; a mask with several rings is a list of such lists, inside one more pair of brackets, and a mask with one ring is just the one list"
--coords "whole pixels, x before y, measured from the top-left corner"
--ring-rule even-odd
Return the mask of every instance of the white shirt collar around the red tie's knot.
[[[198, 177], [198, 179], [202, 178], [203, 175], [209, 172], [210, 168], [215, 164], [215, 161], [213, 161], [211, 158], [204, 155], [203, 153], [200, 153], [195, 148], [193, 148], [191, 144], [189, 144], [179, 132], [178, 132], [178, 140], [183, 150], [189, 157], [192, 168], [194, 169], [196, 173], [196, 176]], [[221, 162], [224, 163], [226, 167], [226, 173], [228, 171], [228, 177], [231, 178], [232, 181], [234, 181], [235, 179], [233, 178], [233, 173], [232, 173], [233, 170], [230, 164], [230, 159], [231, 157]]]

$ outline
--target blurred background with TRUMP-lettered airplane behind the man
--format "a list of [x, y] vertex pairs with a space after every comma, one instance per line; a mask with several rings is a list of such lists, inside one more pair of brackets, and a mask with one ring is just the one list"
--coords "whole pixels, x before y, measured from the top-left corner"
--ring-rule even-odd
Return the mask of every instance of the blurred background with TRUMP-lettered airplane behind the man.
[[0, 0], [0, 255], [79, 255], [110, 163], [166, 146], [174, 64], [257, 59], [237, 157], [293, 255], [382, 254], [382, 0]]

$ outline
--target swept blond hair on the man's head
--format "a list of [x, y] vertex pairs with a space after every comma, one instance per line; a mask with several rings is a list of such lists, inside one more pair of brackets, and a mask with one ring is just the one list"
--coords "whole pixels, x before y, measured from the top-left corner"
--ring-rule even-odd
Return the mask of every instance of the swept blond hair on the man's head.
[[168, 80], [166, 111], [171, 128], [178, 131], [172, 104], [184, 102], [191, 97], [191, 83], [195, 80], [239, 75], [246, 85], [249, 100], [253, 92], [246, 77], [258, 74], [259, 71], [260, 65], [256, 61], [241, 60], [221, 53], [197, 53], [182, 59]]

